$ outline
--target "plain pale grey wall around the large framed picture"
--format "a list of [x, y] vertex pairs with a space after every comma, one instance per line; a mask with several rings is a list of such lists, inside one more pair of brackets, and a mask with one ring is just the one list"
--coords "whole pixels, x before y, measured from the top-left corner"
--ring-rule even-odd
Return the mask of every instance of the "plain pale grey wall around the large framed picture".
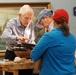
[[76, 0], [0, 0], [0, 2], [51, 2], [53, 10], [64, 8], [69, 12], [70, 29], [76, 36], [76, 16], [73, 15], [73, 7], [76, 6]]

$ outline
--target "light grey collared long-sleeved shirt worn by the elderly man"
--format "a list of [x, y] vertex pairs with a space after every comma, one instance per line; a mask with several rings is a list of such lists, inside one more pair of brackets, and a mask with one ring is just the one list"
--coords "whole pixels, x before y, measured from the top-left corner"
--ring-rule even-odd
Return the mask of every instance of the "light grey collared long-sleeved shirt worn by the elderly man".
[[25, 34], [26, 34], [25, 32], [27, 32], [28, 30], [29, 30], [29, 35], [26, 35], [26, 37], [28, 37], [31, 40], [31, 42], [28, 41], [28, 43], [35, 44], [33, 22], [31, 22], [29, 26], [25, 27], [25, 26], [21, 25], [19, 17], [9, 20], [9, 22], [7, 23], [7, 26], [1, 36], [1, 39], [6, 41], [6, 49], [11, 50], [10, 45], [21, 43], [20, 41], [16, 40], [16, 37], [25, 36]]

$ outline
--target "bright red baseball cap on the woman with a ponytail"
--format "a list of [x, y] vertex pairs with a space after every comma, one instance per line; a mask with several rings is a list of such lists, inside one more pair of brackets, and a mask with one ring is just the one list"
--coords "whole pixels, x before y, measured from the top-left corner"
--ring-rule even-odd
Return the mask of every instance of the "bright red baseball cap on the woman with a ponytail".
[[57, 9], [56, 11], [54, 11], [54, 14], [52, 17], [54, 20], [58, 22], [63, 22], [62, 20], [60, 20], [61, 17], [64, 17], [66, 19], [66, 22], [68, 22], [69, 20], [68, 12], [64, 9]]

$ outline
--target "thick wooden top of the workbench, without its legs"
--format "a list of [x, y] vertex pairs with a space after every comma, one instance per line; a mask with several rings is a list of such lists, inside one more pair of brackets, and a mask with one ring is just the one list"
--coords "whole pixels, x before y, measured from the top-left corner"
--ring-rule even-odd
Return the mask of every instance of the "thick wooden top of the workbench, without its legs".
[[26, 59], [24, 62], [15, 63], [13, 61], [9, 62], [0, 62], [0, 68], [7, 69], [7, 70], [16, 70], [16, 69], [32, 69], [34, 68], [34, 62], [30, 59]]

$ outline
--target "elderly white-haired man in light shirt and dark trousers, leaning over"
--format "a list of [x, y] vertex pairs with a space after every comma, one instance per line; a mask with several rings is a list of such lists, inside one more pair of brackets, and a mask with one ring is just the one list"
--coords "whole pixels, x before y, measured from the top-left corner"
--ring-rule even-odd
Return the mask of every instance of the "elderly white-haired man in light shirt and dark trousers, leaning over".
[[[11, 45], [22, 42], [35, 44], [34, 24], [32, 18], [34, 11], [29, 5], [23, 5], [18, 13], [18, 17], [10, 19], [2, 33], [1, 39], [6, 41], [5, 59], [14, 60], [16, 57]], [[33, 70], [20, 70], [19, 75], [32, 75]], [[5, 72], [5, 75], [13, 75]]]

